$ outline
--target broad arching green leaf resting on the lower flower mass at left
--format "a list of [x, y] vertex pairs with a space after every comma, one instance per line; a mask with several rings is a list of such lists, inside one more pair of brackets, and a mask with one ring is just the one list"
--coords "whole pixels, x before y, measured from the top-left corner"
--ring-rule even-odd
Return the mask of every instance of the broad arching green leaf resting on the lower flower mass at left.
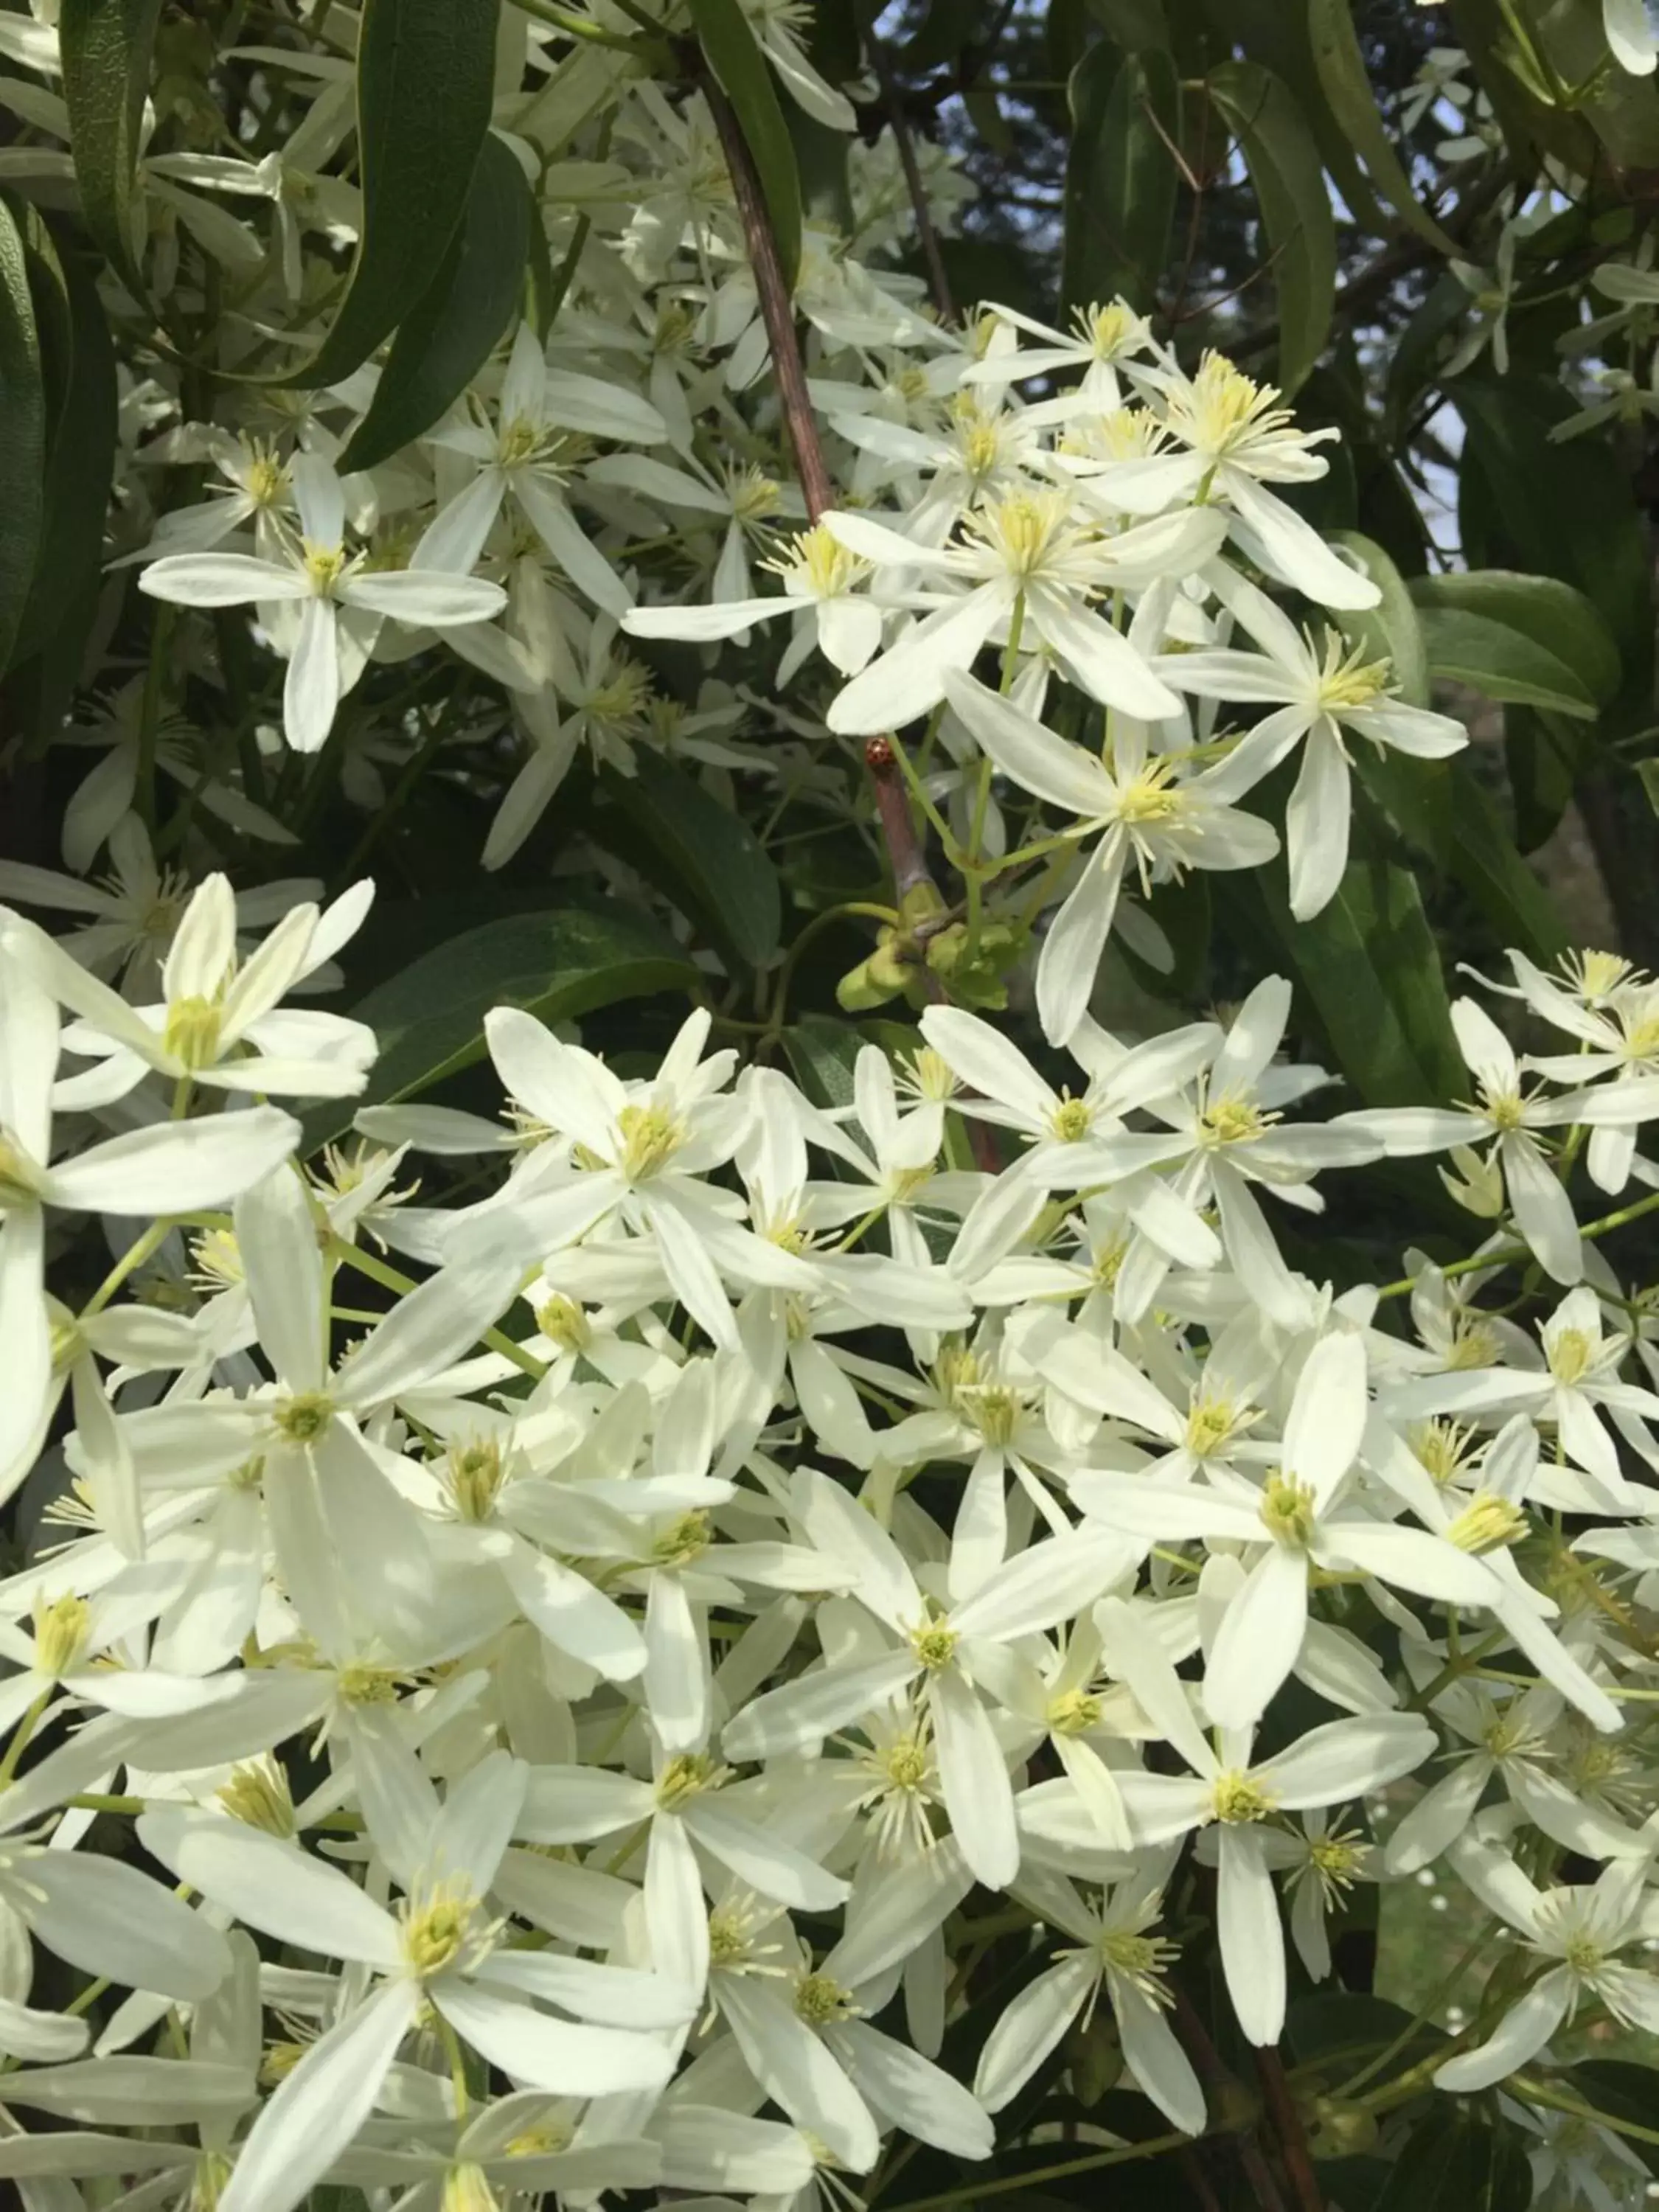
[[380, 1057], [361, 1099], [330, 1102], [312, 1117], [307, 1144], [338, 1137], [358, 1106], [420, 1097], [482, 1060], [491, 1006], [524, 1006], [538, 1022], [568, 1022], [619, 998], [684, 991], [695, 980], [686, 953], [644, 916], [571, 907], [467, 929], [352, 1006], [354, 1020], [380, 1040]]

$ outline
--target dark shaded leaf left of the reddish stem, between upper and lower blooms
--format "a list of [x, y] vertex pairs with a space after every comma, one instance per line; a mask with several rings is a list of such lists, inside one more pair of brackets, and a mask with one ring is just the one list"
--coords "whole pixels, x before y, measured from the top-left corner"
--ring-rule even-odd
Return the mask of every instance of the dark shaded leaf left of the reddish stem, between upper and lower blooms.
[[750, 825], [668, 761], [637, 759], [604, 787], [664, 869], [664, 889], [728, 967], [761, 969], [783, 933], [783, 889]]

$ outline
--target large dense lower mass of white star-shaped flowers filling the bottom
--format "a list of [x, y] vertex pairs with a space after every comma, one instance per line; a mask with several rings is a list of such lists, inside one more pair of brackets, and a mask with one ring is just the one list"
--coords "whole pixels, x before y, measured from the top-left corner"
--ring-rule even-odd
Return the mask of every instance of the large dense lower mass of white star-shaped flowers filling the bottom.
[[[1442, 2086], [1586, 2002], [1659, 2028], [1619, 1734], [1655, 1694], [1626, 1584], [1659, 1491], [1626, 1467], [1659, 1471], [1659, 1349], [1559, 1172], [1588, 1133], [1601, 1188], [1659, 1179], [1652, 984], [1515, 958], [1577, 1053], [1522, 1071], [1464, 1000], [1478, 1104], [1327, 1121], [1287, 1117], [1327, 1077], [1279, 1057], [1276, 978], [1228, 1026], [1084, 1018], [1064, 1093], [936, 1006], [841, 1108], [710, 1053], [706, 1013], [624, 1079], [507, 1009], [504, 1121], [369, 1106], [307, 1172], [248, 1097], [363, 1086], [358, 1024], [279, 1004], [363, 911], [243, 953], [212, 876], [139, 1004], [0, 929], [9, 1491], [71, 1391], [66, 1535], [0, 1584], [0, 2172], [223, 2212], [325, 2177], [805, 2205], [894, 2130], [987, 2157], [1102, 1995], [1197, 2135], [1161, 1929], [1199, 1869], [1256, 2044], [1281, 1887], [1323, 1978], [1349, 1885], [1440, 1856], [1524, 1944]], [[119, 1135], [62, 1152], [53, 1108]], [[949, 1166], [960, 1117], [998, 1175]], [[1385, 1148], [1455, 1148], [1504, 1225], [1332, 1296], [1256, 1192], [1307, 1212]], [[422, 1152], [504, 1170], [418, 1206]], [[60, 1210], [126, 1217], [77, 1305], [42, 1283]], [[1571, 1285], [1537, 1338], [1482, 1303], [1531, 1256]], [[1537, 1885], [1522, 1834], [1599, 1880]], [[975, 1882], [1060, 1951], [969, 2090], [938, 2053]], [[91, 1978], [55, 2011], [31, 1938]]]

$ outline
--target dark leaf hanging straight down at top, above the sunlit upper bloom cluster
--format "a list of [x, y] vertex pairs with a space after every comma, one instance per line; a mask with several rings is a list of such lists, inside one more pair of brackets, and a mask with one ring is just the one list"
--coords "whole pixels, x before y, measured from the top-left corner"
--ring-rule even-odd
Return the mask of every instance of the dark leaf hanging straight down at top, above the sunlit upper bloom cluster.
[[1073, 307], [1124, 294], [1157, 303], [1170, 250], [1181, 133], [1175, 62], [1157, 46], [1099, 42], [1071, 73], [1062, 288]]

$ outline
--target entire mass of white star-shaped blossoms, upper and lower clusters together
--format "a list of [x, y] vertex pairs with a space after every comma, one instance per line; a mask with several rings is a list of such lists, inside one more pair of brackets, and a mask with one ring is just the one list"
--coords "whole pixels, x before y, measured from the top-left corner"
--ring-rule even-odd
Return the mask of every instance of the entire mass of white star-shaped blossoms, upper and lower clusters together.
[[[743, 13], [847, 131], [805, 11]], [[1635, 13], [1608, 9], [1632, 53]], [[208, 409], [159, 358], [122, 394], [111, 591], [137, 571], [157, 650], [64, 732], [97, 754], [69, 874], [0, 865], [0, 1502], [27, 1531], [0, 2181], [29, 2212], [117, 2183], [131, 2212], [321, 2183], [376, 2212], [885, 2203], [914, 2146], [982, 2161], [993, 2115], [1040, 2126], [1104, 2022], [1146, 2132], [1181, 2141], [1237, 2126], [1192, 1938], [1270, 2048], [1354, 1885], [1431, 1865], [1506, 1951], [1431, 2062], [1383, 2051], [1327, 2117], [1511, 2081], [1542, 2130], [1528, 2081], [1575, 2015], [1659, 2031], [1659, 1303], [1601, 1245], [1659, 1210], [1659, 984], [1513, 953], [1504, 1026], [1453, 1006], [1467, 1097], [1323, 1119], [1276, 975], [1102, 1026], [1108, 945], [1172, 964], [1159, 885], [1276, 865], [1292, 754], [1310, 920], [1349, 748], [1467, 743], [1400, 697], [1363, 557], [1283, 495], [1336, 434], [1219, 354], [1183, 369], [1121, 301], [936, 316], [878, 265], [911, 212], [889, 133], [849, 164], [854, 234], [805, 232], [838, 484], [810, 502], [717, 122], [628, 51], [659, 20], [684, 29], [655, 0], [502, 9], [493, 128], [564, 305], [389, 460], [347, 462], [374, 365]], [[53, 22], [0, 15], [0, 181], [44, 197], [73, 177]], [[312, 330], [363, 228], [330, 173], [356, 15], [279, 27], [248, 60], [301, 108], [281, 146], [137, 153], [155, 296], [206, 316], [234, 288], [237, 345]], [[1458, 102], [1438, 66], [1418, 119]], [[949, 212], [962, 179], [920, 153]], [[706, 648], [697, 701], [626, 639]], [[175, 668], [232, 692], [250, 644], [285, 664], [281, 730], [239, 699], [215, 750], [159, 710]], [[356, 712], [403, 661], [453, 684], [453, 726], [431, 697]], [[911, 995], [907, 1048], [796, 1084], [783, 956], [770, 1020], [710, 989], [650, 1075], [498, 1006], [498, 1119], [374, 1104], [347, 1150], [310, 1139], [376, 1068], [369, 1026], [303, 1002], [372, 885], [232, 891], [199, 834], [294, 843], [276, 787], [327, 785], [290, 754], [338, 750], [374, 814], [383, 770], [453, 741], [493, 869], [584, 748], [845, 821], [865, 739], [911, 874], [889, 838], [843, 1004]], [[1026, 980], [1042, 1066], [984, 1018]], [[1480, 1248], [1352, 1287], [1323, 1179], [1427, 1188], [1387, 1168], [1427, 1155]]]

